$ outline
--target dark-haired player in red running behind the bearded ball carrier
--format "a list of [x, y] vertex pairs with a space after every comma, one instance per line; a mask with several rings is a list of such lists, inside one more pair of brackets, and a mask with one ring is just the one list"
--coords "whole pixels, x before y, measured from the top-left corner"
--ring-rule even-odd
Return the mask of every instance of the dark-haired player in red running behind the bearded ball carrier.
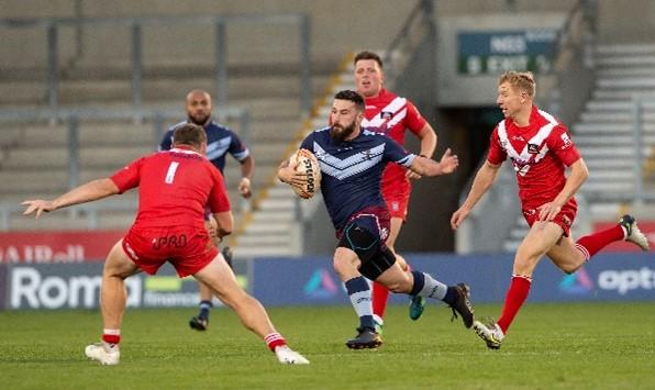
[[[384, 132], [401, 146], [404, 145], [406, 130], [409, 130], [421, 140], [419, 155], [431, 158], [436, 148], [436, 133], [411, 101], [396, 96], [384, 87], [385, 73], [380, 57], [371, 52], [360, 52], [355, 56], [354, 65], [357, 92], [364, 97], [366, 102], [362, 127]], [[404, 258], [396, 252], [396, 239], [407, 219], [409, 197], [412, 189], [409, 179], [419, 178], [420, 176], [410, 169], [389, 164], [385, 169], [381, 181], [382, 194], [391, 215], [391, 227], [386, 244], [404, 270], [408, 270], [409, 266]], [[389, 290], [382, 285], [374, 282], [373, 314], [379, 333], [381, 333], [384, 325], [388, 298]], [[425, 300], [422, 297], [412, 297], [410, 317], [418, 320], [423, 313], [424, 305]]]

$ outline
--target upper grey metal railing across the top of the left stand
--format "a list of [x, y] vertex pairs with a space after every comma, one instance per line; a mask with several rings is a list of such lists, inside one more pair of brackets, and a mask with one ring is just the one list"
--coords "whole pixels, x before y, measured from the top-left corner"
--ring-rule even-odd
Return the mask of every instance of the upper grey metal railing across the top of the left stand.
[[[131, 73], [132, 73], [132, 107], [140, 109], [143, 103], [142, 71], [143, 71], [143, 26], [144, 25], [176, 25], [189, 24], [212, 25], [215, 29], [215, 102], [217, 105], [227, 104], [227, 34], [231, 24], [248, 23], [262, 24], [297, 24], [300, 47], [298, 62], [300, 71], [300, 107], [303, 113], [309, 113], [312, 104], [311, 81], [311, 22], [307, 14], [279, 15], [225, 15], [225, 16], [149, 16], [149, 18], [44, 18], [44, 19], [0, 19], [0, 29], [45, 29], [47, 49], [47, 103], [51, 112], [59, 108], [59, 30], [71, 26], [80, 32], [81, 26], [127, 26], [131, 29]], [[79, 45], [81, 38], [77, 38]], [[10, 44], [3, 42], [3, 44]], [[282, 41], [284, 44], [284, 41]], [[76, 53], [81, 53], [78, 48]]]

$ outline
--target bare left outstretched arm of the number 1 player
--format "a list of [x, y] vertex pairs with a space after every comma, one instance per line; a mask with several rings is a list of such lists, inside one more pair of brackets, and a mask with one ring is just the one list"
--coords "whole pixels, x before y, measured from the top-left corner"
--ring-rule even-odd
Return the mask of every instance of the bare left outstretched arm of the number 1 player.
[[42, 212], [49, 212], [74, 204], [91, 202], [116, 193], [119, 193], [116, 185], [111, 179], [104, 178], [92, 180], [76, 187], [55, 200], [25, 200], [21, 204], [27, 207], [23, 212], [23, 215], [30, 215], [35, 212], [36, 218], [38, 218]]

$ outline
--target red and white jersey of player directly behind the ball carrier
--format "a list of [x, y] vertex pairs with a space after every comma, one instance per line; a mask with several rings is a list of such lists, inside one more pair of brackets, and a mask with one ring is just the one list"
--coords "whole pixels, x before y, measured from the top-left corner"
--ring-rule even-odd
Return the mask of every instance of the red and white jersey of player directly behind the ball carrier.
[[[419, 134], [425, 126], [425, 119], [417, 107], [408, 99], [396, 96], [382, 88], [376, 98], [365, 98], [366, 110], [362, 126], [369, 131], [380, 132], [399, 145], [404, 145], [406, 130]], [[406, 169], [391, 164], [382, 177], [382, 186], [393, 186], [409, 180], [404, 176]]]

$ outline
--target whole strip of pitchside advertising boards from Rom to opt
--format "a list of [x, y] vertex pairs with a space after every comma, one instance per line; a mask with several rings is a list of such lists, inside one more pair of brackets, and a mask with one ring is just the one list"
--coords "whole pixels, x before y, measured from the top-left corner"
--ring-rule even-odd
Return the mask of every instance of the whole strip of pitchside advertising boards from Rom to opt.
[[[466, 282], [471, 301], [502, 302], [512, 275], [512, 255], [407, 255], [417, 270], [448, 283]], [[101, 263], [0, 264], [1, 309], [98, 308]], [[242, 277], [243, 279], [244, 277]], [[343, 283], [324, 257], [258, 258], [245, 283], [264, 305], [349, 304]], [[127, 305], [179, 308], [198, 304], [192, 278], [179, 279], [169, 265], [157, 276], [138, 274], [126, 279]], [[244, 282], [242, 281], [242, 286]], [[533, 277], [530, 302], [655, 300], [655, 264], [652, 253], [601, 253], [573, 275], [547, 259]], [[392, 303], [407, 304], [404, 294]], [[218, 301], [217, 301], [218, 303]]]

